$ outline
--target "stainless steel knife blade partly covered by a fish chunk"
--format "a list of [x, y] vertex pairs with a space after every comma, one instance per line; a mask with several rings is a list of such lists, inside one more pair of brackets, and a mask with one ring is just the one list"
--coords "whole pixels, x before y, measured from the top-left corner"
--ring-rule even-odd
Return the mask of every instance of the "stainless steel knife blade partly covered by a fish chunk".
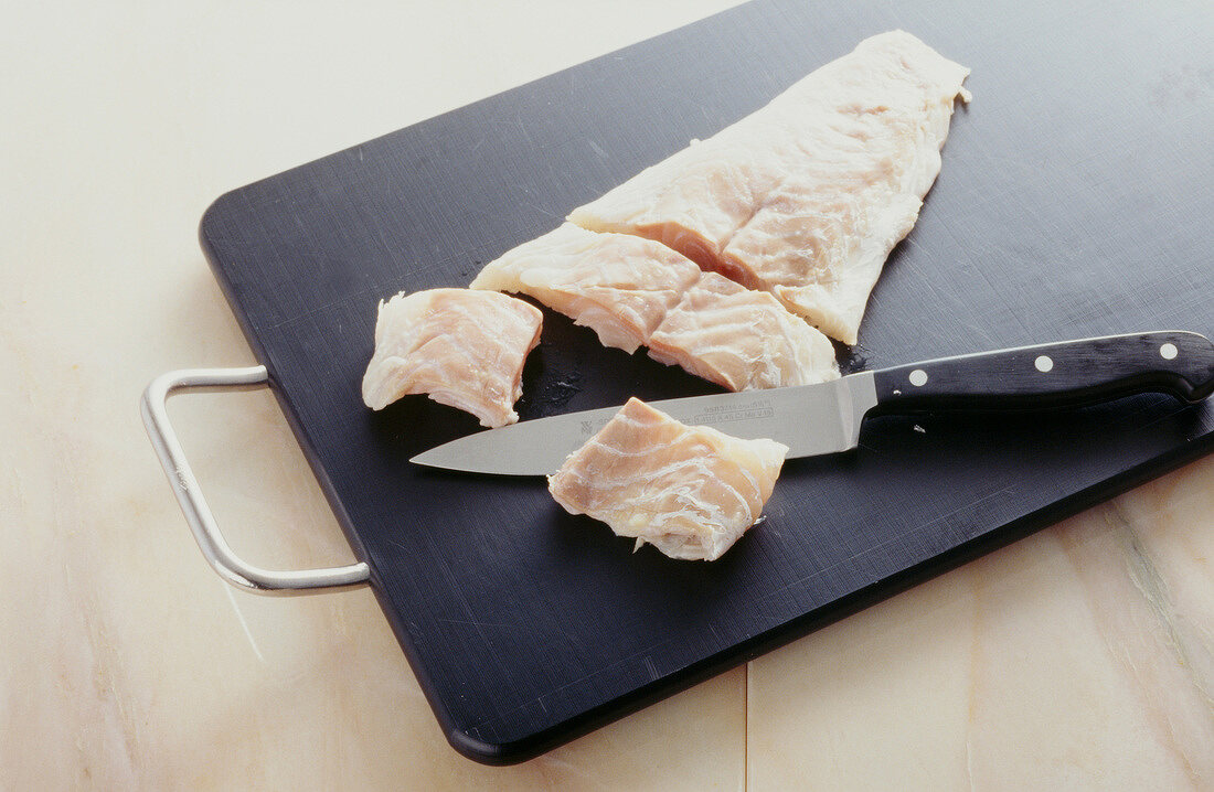
[[[690, 426], [710, 426], [745, 439], [778, 440], [794, 458], [856, 448], [864, 412], [877, 404], [877, 387], [873, 372], [862, 371], [822, 384], [649, 404]], [[410, 462], [471, 473], [555, 473], [565, 457], [618, 411], [619, 406], [567, 412], [477, 432], [419, 454]]]

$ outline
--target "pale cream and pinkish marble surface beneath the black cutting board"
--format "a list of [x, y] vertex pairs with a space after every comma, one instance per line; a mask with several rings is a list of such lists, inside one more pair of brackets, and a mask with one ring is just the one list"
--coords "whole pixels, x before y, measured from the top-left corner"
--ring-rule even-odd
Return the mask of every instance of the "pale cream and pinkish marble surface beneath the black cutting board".
[[[511, 768], [447, 747], [369, 591], [204, 563], [137, 397], [255, 363], [210, 200], [728, 5], [7, 11], [0, 788], [1214, 787], [1214, 460]], [[239, 553], [351, 559], [270, 394], [170, 410]]]

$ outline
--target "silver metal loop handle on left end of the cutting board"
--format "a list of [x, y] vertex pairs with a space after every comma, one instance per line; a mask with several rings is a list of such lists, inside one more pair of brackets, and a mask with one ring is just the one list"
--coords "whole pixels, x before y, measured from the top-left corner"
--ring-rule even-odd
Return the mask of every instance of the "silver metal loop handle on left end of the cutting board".
[[211, 509], [206, 506], [186, 454], [181, 449], [176, 432], [169, 422], [165, 409], [169, 397], [182, 391], [237, 389], [249, 391], [268, 387], [266, 366], [248, 369], [183, 369], [163, 374], [148, 384], [141, 399], [143, 425], [148, 429], [152, 446], [169, 477], [181, 511], [194, 531], [203, 555], [220, 574], [220, 577], [242, 588], [261, 594], [304, 594], [365, 583], [370, 577], [367, 564], [358, 562], [348, 566], [310, 569], [297, 571], [271, 571], [248, 564], [228, 547], [220, 534]]

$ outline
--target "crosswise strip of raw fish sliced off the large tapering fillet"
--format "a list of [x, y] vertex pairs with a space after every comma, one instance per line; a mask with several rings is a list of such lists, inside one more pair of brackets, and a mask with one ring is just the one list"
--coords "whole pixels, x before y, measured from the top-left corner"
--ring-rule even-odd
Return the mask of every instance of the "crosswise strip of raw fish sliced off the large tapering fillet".
[[566, 223], [484, 266], [472, 289], [526, 294], [649, 355], [734, 391], [839, 376], [826, 336], [766, 292], [747, 290], [660, 243]]

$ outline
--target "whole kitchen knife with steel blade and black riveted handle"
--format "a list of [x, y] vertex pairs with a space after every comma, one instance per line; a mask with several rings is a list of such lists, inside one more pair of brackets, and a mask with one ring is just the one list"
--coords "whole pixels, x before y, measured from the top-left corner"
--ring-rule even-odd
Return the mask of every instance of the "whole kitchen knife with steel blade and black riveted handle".
[[[1214, 391], [1214, 344], [1169, 330], [938, 358], [819, 384], [665, 399], [649, 404], [691, 426], [771, 438], [788, 458], [856, 448], [866, 417], [937, 410], [1039, 410], [1142, 392], [1197, 403]], [[477, 432], [413, 457], [430, 467], [543, 475], [556, 472], [619, 411], [567, 412]]]

